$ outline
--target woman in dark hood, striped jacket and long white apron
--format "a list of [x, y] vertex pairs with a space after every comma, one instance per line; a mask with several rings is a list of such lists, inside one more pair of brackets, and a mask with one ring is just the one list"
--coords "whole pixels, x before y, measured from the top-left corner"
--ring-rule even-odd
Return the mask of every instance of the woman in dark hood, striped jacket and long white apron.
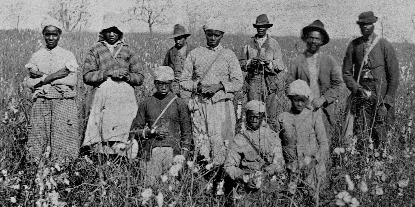
[[123, 41], [116, 26], [103, 27], [86, 54], [83, 81], [94, 88], [86, 100], [88, 124], [83, 146], [110, 159], [127, 156], [132, 120], [137, 114], [134, 86], [144, 75], [137, 53]]

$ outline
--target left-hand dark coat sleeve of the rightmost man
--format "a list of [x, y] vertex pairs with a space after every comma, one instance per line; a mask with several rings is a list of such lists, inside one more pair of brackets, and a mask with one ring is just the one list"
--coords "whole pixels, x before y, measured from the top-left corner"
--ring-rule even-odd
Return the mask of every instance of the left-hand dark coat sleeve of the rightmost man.
[[351, 42], [347, 47], [346, 54], [344, 55], [342, 72], [346, 87], [352, 91], [352, 93], [356, 93], [357, 89], [359, 89], [361, 85], [354, 80], [353, 52], [353, 42]]

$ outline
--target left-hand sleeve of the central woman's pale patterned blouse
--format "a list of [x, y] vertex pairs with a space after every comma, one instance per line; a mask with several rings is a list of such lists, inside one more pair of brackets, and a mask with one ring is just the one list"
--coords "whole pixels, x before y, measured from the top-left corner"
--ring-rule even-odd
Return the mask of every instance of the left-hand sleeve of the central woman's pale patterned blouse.
[[198, 86], [198, 82], [193, 81], [194, 64], [195, 58], [193, 57], [193, 51], [190, 51], [187, 55], [180, 80], [180, 86], [190, 92], [196, 91]]

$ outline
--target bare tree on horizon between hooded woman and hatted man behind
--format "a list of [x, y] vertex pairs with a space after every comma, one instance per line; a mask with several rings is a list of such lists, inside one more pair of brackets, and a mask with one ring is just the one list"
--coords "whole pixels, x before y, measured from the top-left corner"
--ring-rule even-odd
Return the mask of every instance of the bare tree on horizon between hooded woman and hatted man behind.
[[170, 6], [170, 0], [135, 0], [135, 5], [130, 10], [131, 20], [139, 20], [149, 25], [150, 33], [153, 26], [163, 24], [166, 21], [165, 10]]

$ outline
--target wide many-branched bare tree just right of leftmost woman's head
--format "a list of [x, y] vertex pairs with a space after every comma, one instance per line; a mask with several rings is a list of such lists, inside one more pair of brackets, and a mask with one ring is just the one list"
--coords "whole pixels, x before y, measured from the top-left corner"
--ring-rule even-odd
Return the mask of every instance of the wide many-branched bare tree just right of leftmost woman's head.
[[88, 17], [91, 17], [89, 5], [88, 0], [59, 0], [49, 15], [61, 22], [62, 29], [66, 31], [81, 29], [87, 24]]

